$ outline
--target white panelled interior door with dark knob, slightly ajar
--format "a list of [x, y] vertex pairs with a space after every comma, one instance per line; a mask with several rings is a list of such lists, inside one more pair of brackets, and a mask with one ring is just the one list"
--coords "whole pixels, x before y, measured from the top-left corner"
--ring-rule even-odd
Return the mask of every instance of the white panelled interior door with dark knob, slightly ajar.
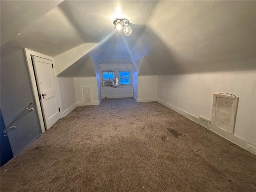
[[37, 56], [32, 56], [32, 58], [44, 115], [44, 123], [46, 129], [49, 129], [61, 118], [52, 61]]

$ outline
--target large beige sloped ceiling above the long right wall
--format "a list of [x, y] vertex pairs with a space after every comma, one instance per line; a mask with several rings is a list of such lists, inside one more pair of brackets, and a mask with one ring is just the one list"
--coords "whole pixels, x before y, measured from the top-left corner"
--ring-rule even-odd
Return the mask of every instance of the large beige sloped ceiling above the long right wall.
[[[255, 1], [161, 1], [150, 28], [176, 68], [168, 73], [255, 70]], [[150, 54], [148, 61], [157, 54]], [[160, 66], [166, 73], [166, 64]], [[142, 65], [143, 66], [143, 65]]]

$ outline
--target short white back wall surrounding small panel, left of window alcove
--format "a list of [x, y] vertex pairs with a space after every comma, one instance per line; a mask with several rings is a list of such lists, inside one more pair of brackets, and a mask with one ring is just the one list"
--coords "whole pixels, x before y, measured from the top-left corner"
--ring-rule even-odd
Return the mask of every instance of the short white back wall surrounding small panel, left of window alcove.
[[[76, 90], [76, 101], [78, 105], [98, 105], [98, 86], [96, 77], [74, 77], [75, 90]], [[82, 102], [81, 86], [90, 86], [92, 92], [92, 102]]]

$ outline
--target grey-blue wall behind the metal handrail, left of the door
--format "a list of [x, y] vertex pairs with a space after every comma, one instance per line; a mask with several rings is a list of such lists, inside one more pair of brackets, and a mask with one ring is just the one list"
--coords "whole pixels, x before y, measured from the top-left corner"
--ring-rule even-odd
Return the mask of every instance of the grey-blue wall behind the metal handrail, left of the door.
[[[34, 102], [34, 95], [28, 72], [28, 65], [24, 50], [20, 48], [8, 48], [9, 52], [3, 52], [1, 46], [1, 110], [6, 126], [19, 116], [20, 113]], [[8, 129], [8, 138], [12, 148], [12, 154], [16, 156], [40, 134], [42, 134], [38, 112], [35, 104], [31, 106], [34, 111], [26, 111]]]

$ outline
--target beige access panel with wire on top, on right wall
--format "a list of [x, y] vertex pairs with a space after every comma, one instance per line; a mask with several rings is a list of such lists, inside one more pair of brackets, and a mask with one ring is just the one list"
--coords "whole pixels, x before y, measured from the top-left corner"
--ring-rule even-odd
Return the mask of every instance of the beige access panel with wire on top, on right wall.
[[213, 94], [212, 124], [234, 133], [238, 97]]

